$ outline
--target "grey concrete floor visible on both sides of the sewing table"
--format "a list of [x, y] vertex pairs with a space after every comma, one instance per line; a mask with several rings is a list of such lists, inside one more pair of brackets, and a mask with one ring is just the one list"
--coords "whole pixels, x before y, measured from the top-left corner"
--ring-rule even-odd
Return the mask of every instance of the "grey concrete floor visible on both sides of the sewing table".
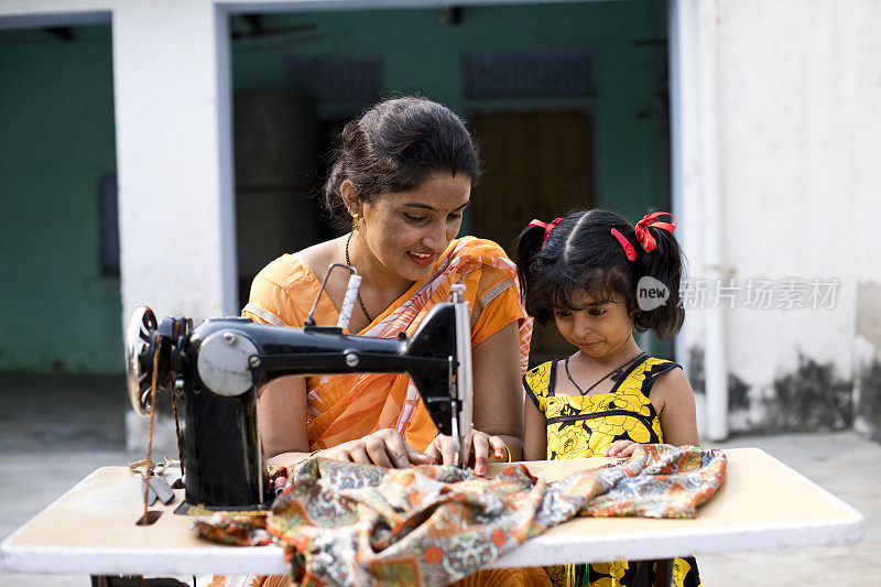
[[[124, 450], [123, 389], [120, 378], [0, 377], [0, 541], [96, 468], [143, 458]], [[866, 539], [850, 547], [700, 556], [704, 585], [881, 585], [881, 445], [842, 432], [714, 446], [765, 450], [862, 512]], [[159, 452], [176, 454], [173, 446]], [[0, 569], [0, 587], [44, 585], [90, 581]]]

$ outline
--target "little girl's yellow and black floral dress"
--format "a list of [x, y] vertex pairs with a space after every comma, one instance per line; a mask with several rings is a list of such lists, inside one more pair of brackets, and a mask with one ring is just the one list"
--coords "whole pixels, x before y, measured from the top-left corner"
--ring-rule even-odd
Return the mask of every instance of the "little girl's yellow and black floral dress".
[[[664, 359], [646, 357], [631, 365], [614, 382], [609, 393], [555, 395], [558, 361], [535, 367], [523, 377], [526, 393], [547, 420], [547, 459], [602, 456], [614, 441], [640, 444], [663, 443], [661, 420], [649, 400], [652, 385], [663, 373], [679, 367]], [[660, 572], [648, 563], [594, 563], [546, 567], [556, 587], [630, 587], [643, 577]], [[672, 568], [673, 585], [700, 585], [694, 557], [676, 558]]]

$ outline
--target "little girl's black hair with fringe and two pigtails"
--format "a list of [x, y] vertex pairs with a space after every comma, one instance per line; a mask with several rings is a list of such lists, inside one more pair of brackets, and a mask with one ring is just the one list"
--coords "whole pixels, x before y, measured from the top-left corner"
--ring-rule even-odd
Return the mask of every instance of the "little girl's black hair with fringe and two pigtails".
[[[614, 228], [630, 242], [637, 259], [627, 258], [612, 235]], [[576, 309], [585, 293], [600, 302], [623, 298], [637, 330], [652, 329], [660, 338], [676, 334], [685, 311], [679, 302], [682, 250], [668, 231], [650, 227], [656, 241], [646, 252], [635, 229], [623, 217], [602, 209], [578, 211], [564, 218], [542, 244], [545, 229], [527, 226], [518, 237], [516, 265], [526, 312], [542, 325], [554, 317], [553, 307]], [[637, 284], [654, 278], [670, 290], [670, 297], [654, 309], [641, 311]]]

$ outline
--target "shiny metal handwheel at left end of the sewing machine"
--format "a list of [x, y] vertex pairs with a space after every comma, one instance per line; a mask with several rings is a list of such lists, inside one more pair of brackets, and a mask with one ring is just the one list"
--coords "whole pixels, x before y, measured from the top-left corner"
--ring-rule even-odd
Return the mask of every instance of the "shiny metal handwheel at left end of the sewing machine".
[[132, 409], [142, 416], [150, 415], [153, 337], [159, 323], [153, 311], [141, 306], [134, 311], [126, 329], [126, 382]]

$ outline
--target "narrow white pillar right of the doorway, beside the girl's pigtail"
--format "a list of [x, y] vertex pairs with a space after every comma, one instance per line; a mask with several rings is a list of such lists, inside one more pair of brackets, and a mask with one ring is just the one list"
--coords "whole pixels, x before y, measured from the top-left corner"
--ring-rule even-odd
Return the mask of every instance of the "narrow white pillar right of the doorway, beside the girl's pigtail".
[[[689, 276], [718, 284], [729, 273], [722, 247], [718, 7], [704, 0], [674, 0], [670, 23], [673, 208], [690, 261]], [[705, 306], [711, 302], [708, 297]], [[686, 307], [684, 343], [677, 345], [686, 361], [686, 348], [704, 352], [705, 410], [698, 416], [701, 435], [713, 441], [728, 436], [725, 312]]]

